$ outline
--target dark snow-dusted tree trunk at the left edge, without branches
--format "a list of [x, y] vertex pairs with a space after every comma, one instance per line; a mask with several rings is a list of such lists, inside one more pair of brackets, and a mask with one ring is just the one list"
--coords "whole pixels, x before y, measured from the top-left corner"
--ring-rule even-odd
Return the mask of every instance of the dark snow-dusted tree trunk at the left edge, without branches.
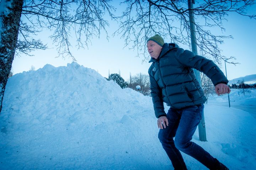
[[[23, 0], [1, 0], [6, 10], [0, 13], [0, 113], [4, 98], [5, 86], [14, 60], [18, 39], [18, 27], [21, 18]], [[10, 4], [10, 5], [9, 5]], [[1, 5], [2, 6], [2, 5]]]

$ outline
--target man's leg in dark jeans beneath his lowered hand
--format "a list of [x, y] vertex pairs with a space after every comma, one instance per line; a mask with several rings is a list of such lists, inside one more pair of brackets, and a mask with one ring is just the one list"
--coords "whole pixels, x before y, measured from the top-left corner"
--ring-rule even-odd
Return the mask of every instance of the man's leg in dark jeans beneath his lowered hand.
[[170, 108], [167, 113], [167, 119], [169, 126], [165, 129], [160, 129], [158, 138], [162, 143], [162, 147], [165, 149], [168, 157], [172, 162], [175, 170], [187, 170], [180, 151], [174, 145], [174, 136], [176, 134], [178, 124], [180, 122], [181, 115], [179, 115], [174, 109]]

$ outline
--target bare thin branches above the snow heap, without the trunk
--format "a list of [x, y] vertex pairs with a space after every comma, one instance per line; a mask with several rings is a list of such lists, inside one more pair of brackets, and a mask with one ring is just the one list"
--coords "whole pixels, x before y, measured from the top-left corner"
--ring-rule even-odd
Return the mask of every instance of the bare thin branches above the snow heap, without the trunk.
[[[41, 28], [47, 28], [52, 33], [50, 38], [57, 44], [58, 56], [69, 56], [75, 60], [70, 51], [72, 45], [69, 40], [75, 36], [79, 48], [87, 46], [92, 36], [99, 37], [101, 30], [107, 34], [108, 22], [103, 15], [107, 11], [113, 18], [111, 11], [114, 7], [110, 2], [111, 0], [24, 0], [18, 42], [26, 44], [30, 50], [34, 49], [33, 45], [40, 44], [41, 41], [34, 40], [30, 35], [36, 35]], [[17, 47], [18, 45], [19, 43]]]

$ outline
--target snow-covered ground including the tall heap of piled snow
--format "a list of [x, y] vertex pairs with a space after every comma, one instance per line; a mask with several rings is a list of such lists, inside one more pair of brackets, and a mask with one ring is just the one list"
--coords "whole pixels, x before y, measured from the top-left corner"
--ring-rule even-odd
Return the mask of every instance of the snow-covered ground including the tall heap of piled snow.
[[[230, 94], [233, 103], [255, 103], [255, 90], [250, 97], [236, 93]], [[214, 96], [205, 104], [208, 141], [199, 141], [198, 131], [193, 141], [230, 170], [254, 170], [256, 119], [220, 104], [226, 98]], [[173, 169], [157, 138], [151, 98], [77, 63], [11, 77], [0, 130], [1, 170]], [[188, 169], [207, 169], [183, 157]]]

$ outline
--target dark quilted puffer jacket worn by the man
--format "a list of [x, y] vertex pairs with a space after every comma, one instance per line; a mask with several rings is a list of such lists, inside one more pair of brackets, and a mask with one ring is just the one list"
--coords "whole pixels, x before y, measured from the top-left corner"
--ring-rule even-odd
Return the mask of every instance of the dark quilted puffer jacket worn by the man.
[[151, 58], [149, 62], [152, 62], [148, 72], [156, 118], [166, 116], [163, 102], [174, 109], [182, 109], [206, 101], [192, 68], [206, 74], [214, 86], [228, 84], [213, 61], [183, 50], [174, 43], [165, 43], [158, 59]]

